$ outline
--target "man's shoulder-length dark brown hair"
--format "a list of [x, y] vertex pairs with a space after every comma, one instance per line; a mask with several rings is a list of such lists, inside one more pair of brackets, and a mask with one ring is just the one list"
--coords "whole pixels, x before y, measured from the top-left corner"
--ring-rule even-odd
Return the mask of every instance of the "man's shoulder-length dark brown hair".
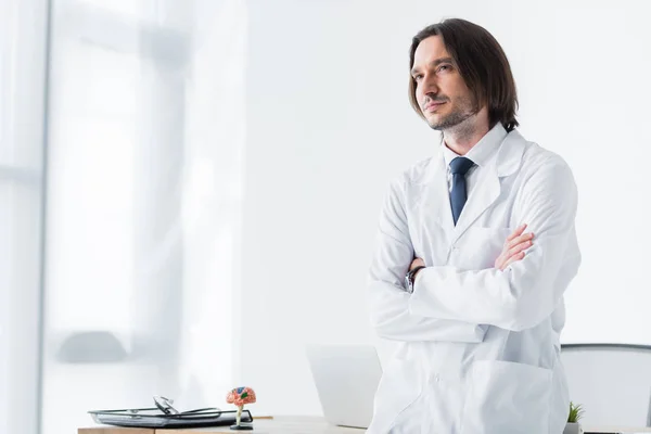
[[[413, 67], [413, 55], [419, 43], [425, 38], [439, 35], [445, 48], [456, 63], [465, 86], [478, 104], [486, 104], [488, 123], [493, 128], [498, 122], [507, 131], [519, 123], [518, 92], [511, 66], [505, 51], [486, 30], [465, 20], [450, 18], [423, 28], [416, 35], [409, 49], [409, 69]], [[416, 112], [424, 118], [416, 99], [416, 80], [409, 76], [409, 101]]]

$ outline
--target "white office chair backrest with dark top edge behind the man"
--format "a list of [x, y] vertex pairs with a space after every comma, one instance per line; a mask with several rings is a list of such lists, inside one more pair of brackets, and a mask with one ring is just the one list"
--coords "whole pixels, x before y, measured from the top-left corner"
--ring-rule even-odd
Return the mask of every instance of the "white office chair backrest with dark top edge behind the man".
[[563, 344], [561, 361], [583, 425], [651, 426], [651, 346]]

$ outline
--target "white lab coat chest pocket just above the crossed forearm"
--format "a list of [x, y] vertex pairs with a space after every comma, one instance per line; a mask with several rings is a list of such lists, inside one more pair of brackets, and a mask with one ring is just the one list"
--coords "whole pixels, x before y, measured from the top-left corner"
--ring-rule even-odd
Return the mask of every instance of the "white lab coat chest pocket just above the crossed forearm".
[[459, 240], [459, 264], [454, 265], [467, 270], [493, 268], [513, 231], [511, 228], [469, 228]]

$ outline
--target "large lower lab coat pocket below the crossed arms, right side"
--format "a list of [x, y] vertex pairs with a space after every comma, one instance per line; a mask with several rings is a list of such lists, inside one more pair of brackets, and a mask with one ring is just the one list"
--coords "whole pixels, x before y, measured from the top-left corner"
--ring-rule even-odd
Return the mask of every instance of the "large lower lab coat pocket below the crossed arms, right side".
[[547, 434], [552, 372], [500, 360], [475, 361], [467, 384], [462, 434]]

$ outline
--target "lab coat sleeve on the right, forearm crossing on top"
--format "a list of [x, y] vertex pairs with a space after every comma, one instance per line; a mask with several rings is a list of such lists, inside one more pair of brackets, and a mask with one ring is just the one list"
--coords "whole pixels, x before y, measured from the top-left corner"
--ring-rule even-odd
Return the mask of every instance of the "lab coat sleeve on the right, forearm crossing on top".
[[570, 167], [553, 155], [521, 189], [514, 213], [527, 224], [526, 232], [534, 233], [524, 258], [503, 271], [449, 266], [421, 270], [409, 301], [412, 315], [521, 331], [552, 314], [580, 264], [576, 184]]

